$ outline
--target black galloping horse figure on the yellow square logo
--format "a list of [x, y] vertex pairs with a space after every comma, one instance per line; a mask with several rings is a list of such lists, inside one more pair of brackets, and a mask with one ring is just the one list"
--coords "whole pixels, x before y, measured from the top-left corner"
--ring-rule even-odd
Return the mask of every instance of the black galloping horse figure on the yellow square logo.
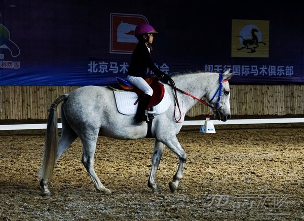
[[250, 30], [250, 38], [243, 37], [242, 35], [238, 35], [240, 38], [240, 43], [242, 45], [241, 48], [238, 48], [238, 51], [242, 49], [250, 50], [247, 53], [255, 53], [256, 48], [259, 46], [259, 44], [266, 45], [264, 42], [261, 42], [261, 34], [258, 31], [257, 28], [251, 28]]

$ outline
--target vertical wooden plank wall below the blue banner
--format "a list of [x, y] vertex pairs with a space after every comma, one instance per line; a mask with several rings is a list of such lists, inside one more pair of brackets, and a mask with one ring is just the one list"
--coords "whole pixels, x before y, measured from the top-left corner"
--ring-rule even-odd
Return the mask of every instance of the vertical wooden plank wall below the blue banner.
[[[78, 87], [0, 86], [0, 120], [47, 119], [47, 109], [52, 102], [75, 88]], [[230, 88], [232, 115], [304, 114], [302, 85], [231, 85]], [[211, 114], [211, 109], [198, 103], [187, 116], [205, 114]]]

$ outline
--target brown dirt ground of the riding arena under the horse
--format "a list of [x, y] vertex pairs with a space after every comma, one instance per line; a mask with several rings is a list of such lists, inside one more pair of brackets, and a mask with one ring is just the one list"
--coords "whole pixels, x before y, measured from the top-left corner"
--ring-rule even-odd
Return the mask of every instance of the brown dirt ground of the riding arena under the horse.
[[147, 187], [154, 140], [99, 137], [95, 170], [112, 191], [95, 191], [72, 143], [41, 197], [44, 130], [0, 133], [0, 220], [304, 220], [304, 124], [184, 126], [183, 179], [168, 183], [178, 158], [165, 150], [157, 182]]

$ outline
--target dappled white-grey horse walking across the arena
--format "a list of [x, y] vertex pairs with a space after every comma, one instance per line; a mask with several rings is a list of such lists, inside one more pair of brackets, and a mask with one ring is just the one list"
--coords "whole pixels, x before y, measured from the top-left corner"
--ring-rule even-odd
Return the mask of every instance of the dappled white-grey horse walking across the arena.
[[[165, 84], [171, 103], [167, 110], [148, 124], [136, 124], [134, 115], [124, 115], [118, 111], [113, 90], [108, 86], [85, 86], [58, 97], [50, 108], [44, 157], [40, 172], [42, 196], [50, 196], [48, 182], [55, 163], [69, 145], [80, 137], [83, 144], [82, 163], [91, 177], [97, 191], [105, 195], [111, 191], [100, 182], [94, 170], [94, 153], [98, 135], [117, 139], [155, 138], [148, 187], [153, 193], [161, 193], [155, 181], [157, 167], [167, 146], [179, 158], [178, 169], [169, 182], [173, 193], [182, 178], [186, 153], [176, 135], [179, 133], [185, 114], [198, 101], [210, 106], [214, 118], [221, 121], [230, 119], [230, 87], [228, 80], [234, 75], [230, 70], [215, 72], [185, 72], [170, 75], [170, 84]], [[206, 98], [208, 102], [202, 100]], [[57, 105], [61, 106], [61, 137], [57, 135]], [[176, 111], [178, 110], [178, 111]], [[177, 120], [178, 119], [178, 120]], [[150, 125], [149, 128], [147, 125]]]

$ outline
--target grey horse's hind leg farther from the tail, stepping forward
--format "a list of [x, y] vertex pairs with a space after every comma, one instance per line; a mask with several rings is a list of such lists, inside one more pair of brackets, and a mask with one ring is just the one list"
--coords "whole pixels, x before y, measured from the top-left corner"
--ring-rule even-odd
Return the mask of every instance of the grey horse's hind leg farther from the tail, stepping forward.
[[111, 191], [102, 185], [94, 170], [94, 154], [98, 138], [98, 131], [99, 130], [95, 131], [96, 133], [90, 133], [90, 135], [86, 134], [85, 139], [80, 137], [83, 143], [82, 163], [88, 171], [96, 190], [98, 192], [103, 192], [105, 195], [110, 195]]

